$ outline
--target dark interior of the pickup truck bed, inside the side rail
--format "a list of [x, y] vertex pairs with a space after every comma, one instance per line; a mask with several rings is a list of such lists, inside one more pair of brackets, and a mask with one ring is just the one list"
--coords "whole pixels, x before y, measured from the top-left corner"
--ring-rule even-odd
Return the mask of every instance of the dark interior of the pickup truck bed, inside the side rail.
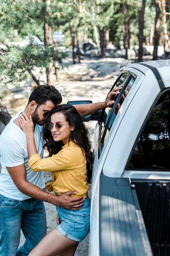
[[132, 179], [154, 256], [170, 255], [170, 180]]

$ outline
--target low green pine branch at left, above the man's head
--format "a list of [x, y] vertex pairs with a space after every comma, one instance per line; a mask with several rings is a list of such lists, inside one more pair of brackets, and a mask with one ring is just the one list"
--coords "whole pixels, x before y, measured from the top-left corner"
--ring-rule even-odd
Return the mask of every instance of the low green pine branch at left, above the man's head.
[[45, 70], [49, 70], [50, 63], [61, 62], [68, 54], [56, 51], [55, 46], [36, 45], [31, 36], [29, 40], [30, 43], [22, 49], [8, 48], [6, 57], [0, 61], [0, 86], [8, 83], [17, 86], [33, 72], [35, 67], [38, 68], [40, 77]]

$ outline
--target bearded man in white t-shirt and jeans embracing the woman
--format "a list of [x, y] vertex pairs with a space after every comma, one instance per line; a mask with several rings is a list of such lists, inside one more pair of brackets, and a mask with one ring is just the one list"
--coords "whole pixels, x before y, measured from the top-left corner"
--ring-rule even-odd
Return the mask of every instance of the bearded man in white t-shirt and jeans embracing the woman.
[[[119, 90], [119, 87], [116, 88]], [[113, 105], [109, 94], [105, 102], [76, 105], [81, 116]], [[28, 167], [26, 136], [18, 123], [18, 116], [24, 112], [34, 122], [34, 138], [37, 151], [43, 157], [42, 125], [48, 112], [62, 102], [62, 96], [54, 86], [37, 87], [31, 93], [25, 110], [17, 113], [0, 135], [0, 256], [28, 256], [29, 252], [46, 234], [46, 215], [43, 201], [66, 209], [78, 210], [83, 198], [71, 198], [75, 191], [55, 196], [45, 192], [42, 172], [31, 172]], [[18, 249], [20, 229], [26, 238]]]

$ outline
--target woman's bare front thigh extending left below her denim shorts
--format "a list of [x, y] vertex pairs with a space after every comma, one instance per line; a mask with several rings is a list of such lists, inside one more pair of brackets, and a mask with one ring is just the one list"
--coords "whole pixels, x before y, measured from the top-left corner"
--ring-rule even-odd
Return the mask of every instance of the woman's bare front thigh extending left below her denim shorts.
[[37, 244], [29, 256], [57, 256], [75, 244], [78, 242], [63, 236], [55, 227]]

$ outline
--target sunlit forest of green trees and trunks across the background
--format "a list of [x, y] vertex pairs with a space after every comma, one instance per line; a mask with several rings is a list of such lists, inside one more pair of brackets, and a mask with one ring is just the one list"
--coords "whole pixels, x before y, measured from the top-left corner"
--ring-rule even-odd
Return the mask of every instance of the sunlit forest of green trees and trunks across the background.
[[[170, 1], [165, 0], [3, 0], [0, 3], [0, 122], [11, 119], [3, 105], [6, 86], [19, 86], [29, 76], [40, 85], [40, 75], [58, 79], [62, 59], [72, 51], [73, 63], [81, 61], [82, 42], [94, 42], [97, 57], [112, 49], [136, 52], [135, 61], [143, 61], [143, 44], [170, 52]], [[64, 50], [54, 39], [54, 31], [65, 35]], [[43, 44], [35, 44], [34, 37]], [[20, 47], [24, 38], [29, 44]], [[137, 46], [137, 47], [136, 47]], [[136, 48], [135, 48], [136, 47]], [[35, 72], [39, 70], [39, 72]], [[0, 131], [1, 132], [1, 131]]]

